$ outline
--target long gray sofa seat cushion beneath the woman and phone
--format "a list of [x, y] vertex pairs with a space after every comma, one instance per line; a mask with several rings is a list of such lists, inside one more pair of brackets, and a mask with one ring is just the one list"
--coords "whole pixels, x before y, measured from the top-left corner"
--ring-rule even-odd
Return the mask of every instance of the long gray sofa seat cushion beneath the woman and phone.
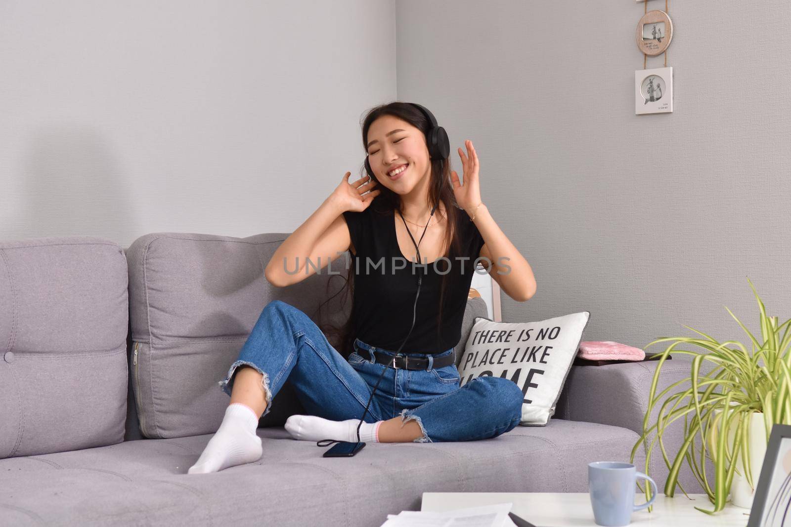
[[326, 448], [282, 427], [258, 435], [258, 461], [210, 474], [186, 472], [211, 435], [3, 460], [0, 517], [13, 525], [380, 525], [387, 514], [419, 510], [426, 491], [585, 492], [587, 464], [628, 461], [638, 439], [625, 428], [553, 419], [481, 441], [369, 443], [354, 457], [323, 457]]

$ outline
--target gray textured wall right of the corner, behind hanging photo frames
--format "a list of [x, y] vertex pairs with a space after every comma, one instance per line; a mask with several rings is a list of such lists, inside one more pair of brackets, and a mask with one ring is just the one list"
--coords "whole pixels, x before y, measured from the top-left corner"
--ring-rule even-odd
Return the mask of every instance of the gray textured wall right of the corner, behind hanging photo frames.
[[399, 0], [398, 96], [435, 112], [452, 151], [473, 141], [483, 201], [532, 265], [536, 295], [503, 295], [504, 321], [588, 310], [585, 340], [644, 347], [687, 325], [749, 348], [723, 307], [760, 338], [747, 277], [791, 317], [791, 6], [670, 2], [664, 115], [634, 115], [643, 10]]

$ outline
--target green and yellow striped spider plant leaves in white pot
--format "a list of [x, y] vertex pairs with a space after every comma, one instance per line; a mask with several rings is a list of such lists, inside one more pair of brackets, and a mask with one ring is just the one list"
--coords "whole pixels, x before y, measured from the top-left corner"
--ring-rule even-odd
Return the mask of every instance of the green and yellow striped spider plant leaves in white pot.
[[[687, 492], [678, 483], [679, 469], [683, 461], [687, 461], [695, 478], [714, 505], [713, 510], [695, 507], [706, 514], [714, 514], [725, 507], [733, 474], [738, 472], [737, 461], [740, 459], [744, 460], [740, 463], [740, 466], [744, 467], [744, 475], [738, 473], [755, 488], [753, 481], [758, 479], [758, 475], [754, 476], [751, 473], [748, 455], [749, 424], [752, 414], [754, 412], [763, 414], [767, 440], [774, 423], [791, 423], [791, 353], [789, 353], [791, 319], [778, 326], [777, 317], [767, 317], [766, 307], [749, 278], [747, 281], [758, 301], [763, 342], [759, 342], [728, 307], [725, 309], [747, 333], [751, 342], [751, 351], [747, 351], [744, 344], [739, 341], [720, 343], [706, 333], [689, 326], [684, 327], [705, 338], [661, 337], [648, 344], [650, 346], [659, 342], [675, 341], [664, 350], [657, 362], [657, 371], [651, 382], [648, 409], [643, 419], [642, 436], [632, 449], [630, 461], [634, 462], [634, 454], [638, 447], [645, 445], [647, 474], [649, 459], [658, 443], [664, 463], [669, 469], [664, 494], [672, 497], [678, 484], [684, 495], [689, 498]], [[783, 331], [782, 338], [781, 331]], [[698, 349], [676, 348], [679, 345]], [[670, 352], [692, 356], [691, 373], [689, 377], [674, 382], [657, 393], [660, 371]], [[711, 367], [708, 373], [702, 371], [704, 362], [706, 363], [704, 369]], [[685, 387], [679, 389], [681, 385]], [[672, 390], [677, 391], [664, 399], [657, 412], [656, 422], [649, 427], [653, 408]], [[728, 411], [725, 411], [726, 409]], [[662, 442], [662, 434], [671, 423], [682, 418], [683, 440], [671, 462]], [[649, 436], [652, 435], [653, 439], [649, 441]], [[706, 479], [706, 459], [713, 462], [715, 473], [713, 486]], [[650, 492], [646, 484], [647, 499], [650, 499]]]

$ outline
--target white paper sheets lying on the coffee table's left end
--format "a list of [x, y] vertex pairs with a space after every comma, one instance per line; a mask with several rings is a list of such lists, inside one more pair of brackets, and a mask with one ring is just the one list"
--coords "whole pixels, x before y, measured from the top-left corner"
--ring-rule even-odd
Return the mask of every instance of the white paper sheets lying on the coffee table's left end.
[[512, 507], [509, 502], [445, 512], [402, 510], [388, 514], [381, 527], [511, 527], [514, 523], [508, 513]]

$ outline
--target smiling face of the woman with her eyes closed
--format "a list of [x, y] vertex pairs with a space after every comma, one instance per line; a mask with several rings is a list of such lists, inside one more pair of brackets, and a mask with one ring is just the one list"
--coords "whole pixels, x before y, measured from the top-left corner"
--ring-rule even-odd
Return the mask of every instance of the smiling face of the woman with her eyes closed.
[[[416, 126], [392, 115], [382, 115], [368, 129], [368, 162], [380, 184], [397, 194], [409, 194], [418, 183], [426, 186], [431, 173], [426, 136]], [[406, 170], [390, 175], [394, 168]]]

